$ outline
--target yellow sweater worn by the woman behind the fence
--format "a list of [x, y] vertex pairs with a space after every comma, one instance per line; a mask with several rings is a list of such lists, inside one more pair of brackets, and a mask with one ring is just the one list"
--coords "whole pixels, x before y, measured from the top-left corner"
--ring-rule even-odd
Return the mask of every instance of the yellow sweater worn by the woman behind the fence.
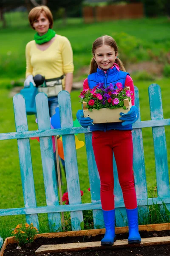
[[[26, 77], [40, 74], [45, 76], [45, 79], [51, 79], [73, 71], [73, 51], [66, 37], [57, 35], [45, 51], [38, 49], [35, 41], [26, 45]], [[64, 81], [62, 84], [64, 87]], [[43, 89], [45, 88], [41, 88], [41, 91]], [[46, 93], [46, 90], [44, 92]]]

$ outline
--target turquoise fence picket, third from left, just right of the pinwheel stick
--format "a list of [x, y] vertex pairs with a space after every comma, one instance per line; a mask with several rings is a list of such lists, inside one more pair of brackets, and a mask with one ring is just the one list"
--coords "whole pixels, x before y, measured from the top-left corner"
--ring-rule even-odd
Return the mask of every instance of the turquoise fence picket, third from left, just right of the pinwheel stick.
[[[58, 94], [59, 111], [61, 128], [72, 128], [73, 117], [71, 111], [70, 94], [67, 91], [61, 91]], [[67, 189], [69, 204], [81, 204], [81, 194], [79, 185], [79, 173], [77, 166], [77, 154], [74, 134], [62, 136], [65, 171], [67, 177]], [[82, 211], [78, 210], [71, 212], [71, 227], [72, 230], [80, 230], [80, 223], [83, 221]]]

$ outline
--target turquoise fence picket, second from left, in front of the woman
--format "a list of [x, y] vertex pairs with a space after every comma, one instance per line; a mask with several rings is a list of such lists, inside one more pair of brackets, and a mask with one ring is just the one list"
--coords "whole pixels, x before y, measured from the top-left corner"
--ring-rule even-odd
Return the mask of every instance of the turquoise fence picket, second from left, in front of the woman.
[[[48, 110], [48, 99], [45, 93], [37, 94], [36, 108], [39, 130], [51, 129]], [[56, 170], [54, 164], [54, 153], [51, 136], [40, 137], [40, 150], [47, 206], [59, 206]], [[60, 213], [48, 213], [48, 223], [51, 231], [58, 231], [61, 227]]]

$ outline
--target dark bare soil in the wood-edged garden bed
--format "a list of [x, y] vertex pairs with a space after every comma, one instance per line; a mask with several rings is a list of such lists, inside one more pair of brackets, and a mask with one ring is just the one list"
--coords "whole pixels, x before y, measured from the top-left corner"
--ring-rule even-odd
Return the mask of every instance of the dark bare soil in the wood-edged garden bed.
[[[170, 230], [165, 231], [140, 231], [141, 238], [147, 237], [161, 237], [170, 236]], [[17, 244], [8, 244], [3, 256], [35, 256], [35, 250], [37, 250], [43, 244], [68, 244], [77, 242], [91, 242], [101, 241], [103, 235], [98, 236], [76, 236], [76, 237], [60, 237], [60, 238], [38, 238], [31, 245], [31, 247], [23, 247], [16, 249]], [[128, 233], [116, 234], [117, 239], [127, 239]], [[112, 248], [112, 250], [111, 250]], [[170, 244], [168, 245], [157, 245], [147, 247], [129, 247], [126, 249], [114, 249], [108, 247], [106, 250], [87, 250], [79, 252], [65, 252], [65, 253], [47, 253], [41, 254], [40, 256], [169, 256], [170, 255]]]

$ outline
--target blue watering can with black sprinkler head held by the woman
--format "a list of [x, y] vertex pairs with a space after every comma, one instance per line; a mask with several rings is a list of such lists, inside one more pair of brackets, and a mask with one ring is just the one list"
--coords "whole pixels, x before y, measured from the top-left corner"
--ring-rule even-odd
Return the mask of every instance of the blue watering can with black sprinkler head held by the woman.
[[29, 87], [25, 87], [20, 91], [23, 94], [26, 102], [26, 113], [27, 115], [34, 115], [37, 113], [36, 105], [35, 105], [35, 96], [38, 93], [38, 86], [42, 85], [45, 81], [44, 77], [41, 75], [36, 75], [33, 77], [36, 86], [34, 86], [31, 82]]

